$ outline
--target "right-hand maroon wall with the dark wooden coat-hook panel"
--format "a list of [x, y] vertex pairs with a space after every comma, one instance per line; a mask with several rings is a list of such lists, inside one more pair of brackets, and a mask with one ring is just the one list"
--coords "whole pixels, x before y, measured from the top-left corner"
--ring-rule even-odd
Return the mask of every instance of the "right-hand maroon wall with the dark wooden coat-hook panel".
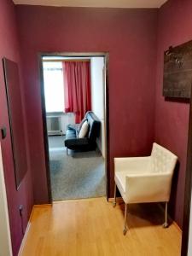
[[155, 98], [155, 141], [177, 154], [179, 168], [172, 188], [171, 214], [177, 224], [183, 223], [184, 178], [189, 126], [189, 103], [166, 101], [162, 96], [163, 52], [170, 45], [192, 39], [192, 2], [171, 0], [159, 12], [157, 80]]

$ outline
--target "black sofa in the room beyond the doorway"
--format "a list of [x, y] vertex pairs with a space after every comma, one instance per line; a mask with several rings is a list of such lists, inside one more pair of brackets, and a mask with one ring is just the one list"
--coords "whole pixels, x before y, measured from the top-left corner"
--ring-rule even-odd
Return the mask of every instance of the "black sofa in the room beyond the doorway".
[[89, 151], [96, 149], [96, 137], [100, 133], [100, 120], [96, 117], [95, 113], [88, 111], [85, 116], [89, 124], [89, 131], [86, 137], [78, 137], [78, 125], [68, 125], [65, 139], [65, 146], [67, 149], [76, 151]]

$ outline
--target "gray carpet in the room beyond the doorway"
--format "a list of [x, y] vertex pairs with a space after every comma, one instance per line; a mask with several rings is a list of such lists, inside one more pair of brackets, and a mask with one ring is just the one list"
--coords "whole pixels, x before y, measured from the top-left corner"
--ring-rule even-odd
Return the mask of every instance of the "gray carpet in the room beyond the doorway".
[[105, 165], [101, 153], [66, 154], [64, 137], [49, 137], [49, 165], [53, 200], [104, 196]]

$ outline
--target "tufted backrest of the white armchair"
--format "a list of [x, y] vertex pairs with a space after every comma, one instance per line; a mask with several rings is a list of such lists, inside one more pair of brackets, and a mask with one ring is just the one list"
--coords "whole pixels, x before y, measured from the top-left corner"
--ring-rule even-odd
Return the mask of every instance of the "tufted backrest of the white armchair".
[[173, 173], [177, 163], [177, 156], [157, 143], [153, 143], [151, 164], [153, 172]]

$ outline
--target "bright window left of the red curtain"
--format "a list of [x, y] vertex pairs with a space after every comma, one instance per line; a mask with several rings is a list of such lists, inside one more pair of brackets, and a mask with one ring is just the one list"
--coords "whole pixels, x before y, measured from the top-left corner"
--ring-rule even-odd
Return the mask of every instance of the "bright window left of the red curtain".
[[44, 61], [46, 112], [64, 112], [64, 86], [61, 61]]

